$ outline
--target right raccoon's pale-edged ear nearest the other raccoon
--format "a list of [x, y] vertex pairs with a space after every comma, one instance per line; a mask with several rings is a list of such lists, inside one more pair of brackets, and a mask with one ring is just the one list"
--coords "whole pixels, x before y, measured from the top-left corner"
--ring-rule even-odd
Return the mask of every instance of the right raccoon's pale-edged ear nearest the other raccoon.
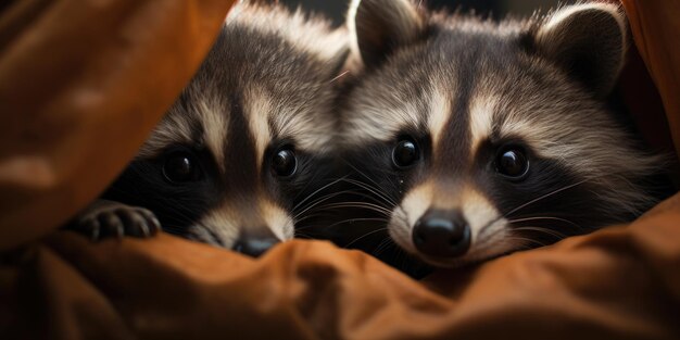
[[352, 0], [348, 22], [353, 49], [366, 67], [425, 33], [425, 17], [411, 0]]

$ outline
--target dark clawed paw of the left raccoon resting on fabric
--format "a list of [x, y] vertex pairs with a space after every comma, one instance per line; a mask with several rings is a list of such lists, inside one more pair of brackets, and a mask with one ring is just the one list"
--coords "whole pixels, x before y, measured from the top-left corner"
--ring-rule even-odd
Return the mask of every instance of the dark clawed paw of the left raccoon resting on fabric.
[[71, 229], [92, 241], [113, 236], [148, 238], [161, 230], [161, 223], [147, 209], [99, 200], [76, 218]]

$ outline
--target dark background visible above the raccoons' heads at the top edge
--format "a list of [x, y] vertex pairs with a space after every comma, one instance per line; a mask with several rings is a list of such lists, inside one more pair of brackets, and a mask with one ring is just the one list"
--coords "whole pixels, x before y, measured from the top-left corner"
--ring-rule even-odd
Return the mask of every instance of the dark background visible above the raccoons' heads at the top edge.
[[[342, 23], [347, 12], [348, 0], [281, 0], [295, 8], [302, 5], [314, 12], [325, 13], [333, 18], [336, 24]], [[449, 9], [463, 11], [474, 10], [479, 14], [490, 14], [499, 18], [507, 13], [513, 15], [531, 15], [536, 10], [546, 11], [558, 3], [570, 3], [572, 0], [423, 0], [429, 9]]]

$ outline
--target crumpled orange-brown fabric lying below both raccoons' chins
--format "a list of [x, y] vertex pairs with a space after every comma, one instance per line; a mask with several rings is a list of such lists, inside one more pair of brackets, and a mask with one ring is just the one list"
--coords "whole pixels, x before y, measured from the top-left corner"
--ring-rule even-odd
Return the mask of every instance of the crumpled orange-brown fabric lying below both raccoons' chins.
[[680, 197], [629, 228], [427, 286], [318, 241], [253, 261], [168, 236], [61, 232], [0, 270], [1, 298], [22, 339], [678, 339], [678, 225]]

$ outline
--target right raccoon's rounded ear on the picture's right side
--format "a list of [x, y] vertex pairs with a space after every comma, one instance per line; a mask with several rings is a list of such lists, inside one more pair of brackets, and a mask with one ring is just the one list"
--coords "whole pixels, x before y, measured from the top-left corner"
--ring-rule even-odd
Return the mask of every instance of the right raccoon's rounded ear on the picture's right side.
[[614, 4], [565, 7], [542, 23], [534, 42], [541, 55], [604, 98], [624, 65], [626, 18]]

